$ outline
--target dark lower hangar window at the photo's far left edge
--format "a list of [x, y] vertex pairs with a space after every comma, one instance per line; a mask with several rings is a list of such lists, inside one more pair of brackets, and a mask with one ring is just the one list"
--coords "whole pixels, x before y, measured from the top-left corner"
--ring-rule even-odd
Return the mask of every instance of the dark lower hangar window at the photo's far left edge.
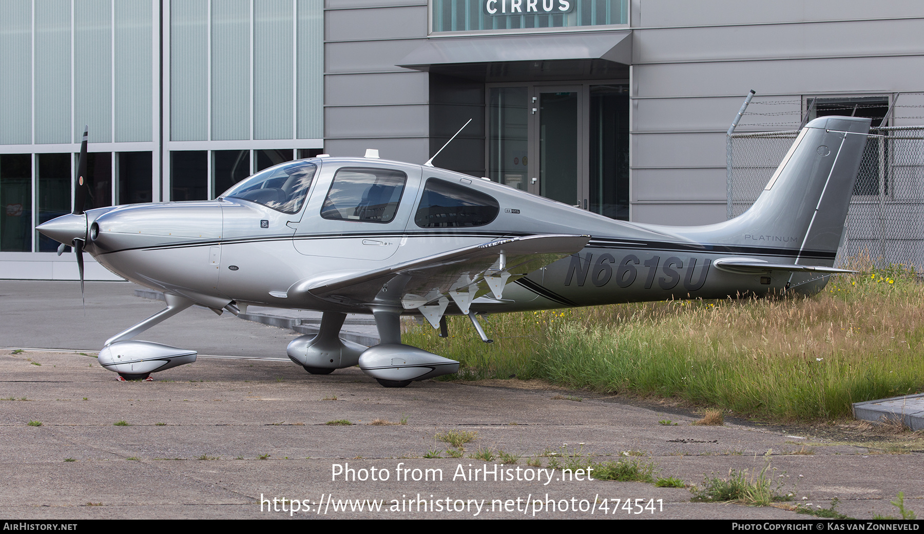
[[0, 154], [0, 251], [30, 252], [32, 156]]

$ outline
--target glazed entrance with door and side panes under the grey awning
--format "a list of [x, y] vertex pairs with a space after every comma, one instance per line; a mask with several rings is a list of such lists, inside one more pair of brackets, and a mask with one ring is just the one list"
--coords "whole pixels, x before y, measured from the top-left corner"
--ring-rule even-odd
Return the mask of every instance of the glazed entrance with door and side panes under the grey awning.
[[628, 219], [626, 84], [488, 87], [489, 177]]

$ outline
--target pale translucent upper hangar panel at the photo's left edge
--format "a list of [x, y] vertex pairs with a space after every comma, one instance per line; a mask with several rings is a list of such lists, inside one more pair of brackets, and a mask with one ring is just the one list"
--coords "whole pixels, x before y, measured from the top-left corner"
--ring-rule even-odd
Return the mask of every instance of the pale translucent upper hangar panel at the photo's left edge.
[[32, 142], [32, 8], [0, 4], [0, 143]]

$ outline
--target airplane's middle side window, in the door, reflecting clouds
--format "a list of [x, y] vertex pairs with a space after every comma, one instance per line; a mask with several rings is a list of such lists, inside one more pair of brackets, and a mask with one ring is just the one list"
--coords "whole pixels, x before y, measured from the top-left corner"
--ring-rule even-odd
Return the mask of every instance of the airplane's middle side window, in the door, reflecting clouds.
[[321, 216], [325, 219], [390, 223], [407, 175], [390, 169], [342, 168], [334, 175]]

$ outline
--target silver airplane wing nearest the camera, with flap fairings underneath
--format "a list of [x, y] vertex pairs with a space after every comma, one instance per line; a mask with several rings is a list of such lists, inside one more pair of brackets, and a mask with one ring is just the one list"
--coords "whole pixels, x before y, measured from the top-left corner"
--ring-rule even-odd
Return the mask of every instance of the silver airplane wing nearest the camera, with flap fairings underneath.
[[489, 291], [501, 298], [507, 283], [574, 254], [589, 240], [590, 236], [568, 234], [508, 237], [297, 290], [347, 305], [419, 309], [432, 323], [432, 317], [439, 322], [449, 298], [468, 313], [473, 299]]

